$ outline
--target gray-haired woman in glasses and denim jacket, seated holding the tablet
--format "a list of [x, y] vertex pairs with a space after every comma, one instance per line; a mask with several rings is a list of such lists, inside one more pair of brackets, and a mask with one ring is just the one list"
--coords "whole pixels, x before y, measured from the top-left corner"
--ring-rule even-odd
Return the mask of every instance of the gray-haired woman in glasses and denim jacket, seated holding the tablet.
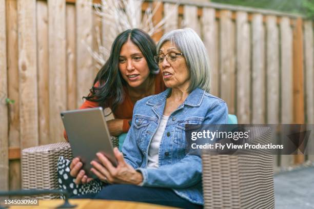
[[[122, 153], [114, 149], [116, 168], [96, 154], [100, 162], [92, 161], [91, 171], [110, 185], [92, 198], [201, 208], [201, 158], [187, 152], [185, 124], [227, 123], [228, 109], [208, 93], [208, 56], [192, 29], [165, 34], [157, 53], [155, 61], [168, 89], [136, 102]], [[76, 182], [89, 181], [79, 171], [82, 165], [73, 161]]]

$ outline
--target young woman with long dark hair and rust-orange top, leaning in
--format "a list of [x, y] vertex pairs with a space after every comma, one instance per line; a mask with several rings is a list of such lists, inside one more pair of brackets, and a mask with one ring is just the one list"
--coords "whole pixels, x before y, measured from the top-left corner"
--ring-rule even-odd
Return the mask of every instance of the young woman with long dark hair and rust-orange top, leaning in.
[[120, 33], [89, 95], [83, 97], [86, 101], [80, 109], [109, 107], [112, 110], [115, 119], [107, 121], [111, 135], [128, 132], [136, 101], [166, 89], [154, 62], [155, 51], [154, 41], [143, 30]]

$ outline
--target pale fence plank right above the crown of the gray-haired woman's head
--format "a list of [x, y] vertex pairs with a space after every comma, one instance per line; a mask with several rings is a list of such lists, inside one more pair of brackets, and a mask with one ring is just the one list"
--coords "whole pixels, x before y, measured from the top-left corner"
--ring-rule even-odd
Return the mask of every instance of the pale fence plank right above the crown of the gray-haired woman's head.
[[184, 26], [193, 29], [201, 37], [201, 28], [198, 19], [198, 7], [191, 5], [184, 5]]

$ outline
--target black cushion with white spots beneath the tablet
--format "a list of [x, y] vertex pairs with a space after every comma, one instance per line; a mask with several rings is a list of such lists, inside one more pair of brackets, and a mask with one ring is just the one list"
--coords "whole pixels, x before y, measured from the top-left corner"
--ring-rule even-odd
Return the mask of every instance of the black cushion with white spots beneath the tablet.
[[[80, 196], [91, 193], [98, 193], [102, 190], [103, 183], [99, 179], [90, 181], [87, 184], [77, 185], [70, 175], [71, 161], [60, 156], [57, 162], [58, 184], [60, 189], [67, 190], [69, 196]], [[64, 199], [64, 197], [61, 197]]]

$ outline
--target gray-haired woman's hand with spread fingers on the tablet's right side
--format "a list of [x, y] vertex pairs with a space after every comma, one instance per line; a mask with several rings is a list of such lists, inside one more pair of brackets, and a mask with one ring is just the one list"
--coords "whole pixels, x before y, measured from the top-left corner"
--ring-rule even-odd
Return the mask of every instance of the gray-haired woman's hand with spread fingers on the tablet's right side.
[[141, 172], [135, 171], [133, 167], [124, 161], [123, 154], [117, 148], [113, 149], [118, 165], [114, 167], [112, 163], [102, 153], [97, 153], [99, 162], [91, 161], [93, 168], [91, 171], [102, 181], [108, 183], [125, 183], [138, 185], [142, 183]]

